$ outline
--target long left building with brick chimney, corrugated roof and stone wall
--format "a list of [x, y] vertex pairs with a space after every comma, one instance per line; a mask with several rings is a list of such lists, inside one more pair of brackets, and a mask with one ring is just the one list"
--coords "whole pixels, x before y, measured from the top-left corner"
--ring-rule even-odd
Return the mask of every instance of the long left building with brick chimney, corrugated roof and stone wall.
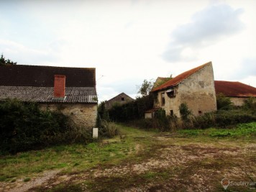
[[97, 116], [95, 73], [95, 68], [0, 66], [0, 101], [37, 102], [41, 109], [59, 110], [91, 129]]

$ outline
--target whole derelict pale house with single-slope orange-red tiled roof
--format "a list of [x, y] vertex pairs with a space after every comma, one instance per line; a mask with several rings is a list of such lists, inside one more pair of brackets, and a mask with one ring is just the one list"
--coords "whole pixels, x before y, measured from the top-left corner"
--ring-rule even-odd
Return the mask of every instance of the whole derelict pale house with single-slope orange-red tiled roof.
[[[171, 78], [153, 88], [152, 92], [156, 94], [154, 108], [162, 108], [166, 115], [180, 117], [179, 106], [182, 103], [186, 103], [195, 116], [216, 111], [214, 71], [211, 62]], [[154, 111], [147, 111], [145, 117], [151, 118]]]

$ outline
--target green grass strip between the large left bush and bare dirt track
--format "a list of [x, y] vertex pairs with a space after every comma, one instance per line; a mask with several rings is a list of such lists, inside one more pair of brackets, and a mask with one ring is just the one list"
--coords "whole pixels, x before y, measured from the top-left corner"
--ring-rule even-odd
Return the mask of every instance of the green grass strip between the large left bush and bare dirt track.
[[137, 143], [151, 145], [150, 140], [138, 137], [146, 138], [155, 133], [118, 126], [122, 129], [121, 134], [127, 135], [124, 140], [117, 136], [106, 140], [106, 144], [92, 142], [88, 145], [60, 145], [45, 150], [0, 156], [0, 181], [32, 176], [45, 170], [61, 168], [63, 172], [70, 173], [96, 165], [112, 165], [134, 155]]

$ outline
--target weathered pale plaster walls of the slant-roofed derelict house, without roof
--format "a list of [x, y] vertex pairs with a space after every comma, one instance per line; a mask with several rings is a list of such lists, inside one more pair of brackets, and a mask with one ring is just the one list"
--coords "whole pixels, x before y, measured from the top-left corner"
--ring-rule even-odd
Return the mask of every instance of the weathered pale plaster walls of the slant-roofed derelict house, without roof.
[[[186, 78], [178, 86], [173, 87], [175, 96], [169, 97], [166, 90], [158, 91], [155, 107], [162, 107], [165, 114], [180, 117], [179, 106], [188, 104], [193, 115], [216, 111], [216, 93], [214, 88], [214, 73], [211, 63], [204, 66], [196, 73]], [[165, 96], [165, 104], [162, 102], [162, 93]]]

